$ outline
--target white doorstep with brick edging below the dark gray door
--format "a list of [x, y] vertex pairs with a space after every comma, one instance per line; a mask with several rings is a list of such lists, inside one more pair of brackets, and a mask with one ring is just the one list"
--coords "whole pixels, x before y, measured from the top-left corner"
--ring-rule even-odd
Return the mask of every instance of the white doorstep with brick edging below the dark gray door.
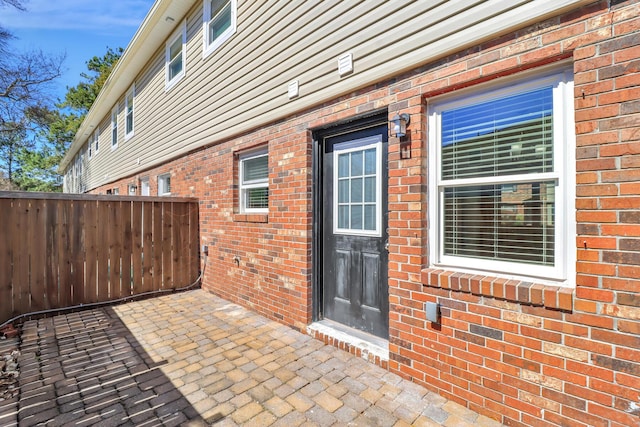
[[307, 333], [312, 336], [316, 333], [322, 334], [358, 348], [365, 359], [369, 358], [369, 356], [375, 356], [383, 361], [389, 360], [389, 340], [350, 328], [333, 320], [323, 319], [314, 322], [307, 327]]

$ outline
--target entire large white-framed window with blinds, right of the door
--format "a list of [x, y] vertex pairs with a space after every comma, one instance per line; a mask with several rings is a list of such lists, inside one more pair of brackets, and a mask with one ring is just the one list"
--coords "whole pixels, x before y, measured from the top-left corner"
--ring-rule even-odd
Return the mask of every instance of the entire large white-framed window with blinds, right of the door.
[[567, 266], [575, 264], [571, 78], [556, 72], [433, 104], [433, 264], [569, 277]]

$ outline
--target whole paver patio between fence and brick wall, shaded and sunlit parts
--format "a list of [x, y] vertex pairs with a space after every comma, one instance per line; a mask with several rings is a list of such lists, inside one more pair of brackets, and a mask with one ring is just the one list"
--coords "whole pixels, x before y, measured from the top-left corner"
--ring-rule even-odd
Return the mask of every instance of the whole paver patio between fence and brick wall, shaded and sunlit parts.
[[499, 426], [202, 290], [25, 323], [0, 425]]

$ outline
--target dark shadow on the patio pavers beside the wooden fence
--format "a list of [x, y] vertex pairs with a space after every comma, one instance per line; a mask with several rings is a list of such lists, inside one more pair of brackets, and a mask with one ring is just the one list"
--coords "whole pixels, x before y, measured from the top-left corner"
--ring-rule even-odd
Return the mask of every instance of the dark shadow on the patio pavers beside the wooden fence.
[[206, 425], [112, 307], [28, 321], [20, 426]]

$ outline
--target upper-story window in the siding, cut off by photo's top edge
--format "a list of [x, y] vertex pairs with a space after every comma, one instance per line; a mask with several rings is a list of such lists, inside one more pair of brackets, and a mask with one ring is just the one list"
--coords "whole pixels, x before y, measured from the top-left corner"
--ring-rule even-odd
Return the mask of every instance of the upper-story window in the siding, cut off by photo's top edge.
[[209, 55], [236, 32], [236, 0], [204, 0], [204, 51]]

